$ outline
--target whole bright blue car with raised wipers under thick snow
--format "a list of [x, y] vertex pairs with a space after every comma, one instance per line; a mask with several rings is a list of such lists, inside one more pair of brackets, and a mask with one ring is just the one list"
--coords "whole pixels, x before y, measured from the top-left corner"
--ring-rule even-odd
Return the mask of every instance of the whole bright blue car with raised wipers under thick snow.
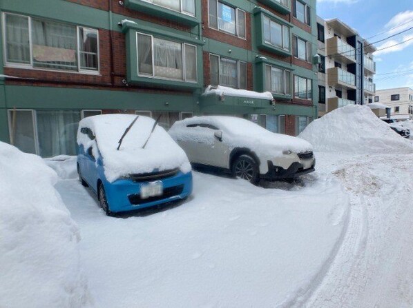
[[146, 116], [104, 114], [80, 121], [77, 172], [106, 214], [186, 198], [191, 164], [164, 128]]

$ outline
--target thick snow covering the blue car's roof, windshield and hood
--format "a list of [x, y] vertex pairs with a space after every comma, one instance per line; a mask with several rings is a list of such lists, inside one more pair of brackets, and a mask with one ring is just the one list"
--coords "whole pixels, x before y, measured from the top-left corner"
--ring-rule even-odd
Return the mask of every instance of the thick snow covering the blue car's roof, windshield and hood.
[[[173, 141], [163, 127], [156, 126], [146, 147], [142, 149], [155, 121], [146, 116], [139, 116], [131, 130], [126, 134], [122, 145], [117, 149], [118, 141], [136, 116], [132, 114], [103, 114], [90, 116], [80, 121], [77, 143], [93, 147], [93, 154], [102, 158], [104, 173], [109, 182], [128, 174], [142, 174], [154, 171], [170, 170], [179, 167], [184, 173], [191, 171], [191, 165], [184, 150]], [[90, 141], [80, 132], [82, 127], [90, 128], [96, 136], [96, 142]], [[96, 147], [97, 143], [97, 147]]]

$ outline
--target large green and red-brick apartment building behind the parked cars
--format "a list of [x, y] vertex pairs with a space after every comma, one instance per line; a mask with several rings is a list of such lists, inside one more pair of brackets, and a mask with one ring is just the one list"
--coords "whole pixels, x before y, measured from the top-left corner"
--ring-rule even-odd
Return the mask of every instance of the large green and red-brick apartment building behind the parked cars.
[[[0, 10], [0, 140], [24, 152], [76, 154], [77, 123], [102, 113], [161, 116], [166, 129], [231, 114], [290, 135], [317, 115], [316, 0], [0, 0]], [[205, 95], [209, 85], [239, 91]]]

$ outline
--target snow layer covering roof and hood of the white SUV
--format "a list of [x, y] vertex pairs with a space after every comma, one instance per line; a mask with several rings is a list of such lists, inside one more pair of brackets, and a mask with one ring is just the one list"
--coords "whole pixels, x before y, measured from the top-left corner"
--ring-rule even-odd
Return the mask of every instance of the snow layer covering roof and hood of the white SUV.
[[213, 125], [222, 130], [224, 134], [229, 135], [225, 141], [231, 143], [233, 147], [249, 147], [264, 152], [268, 152], [269, 148], [294, 152], [312, 151], [312, 146], [308, 141], [270, 132], [256, 123], [235, 116], [194, 116], [175, 122], [169, 134], [175, 140], [192, 138], [186, 126], [198, 123]]

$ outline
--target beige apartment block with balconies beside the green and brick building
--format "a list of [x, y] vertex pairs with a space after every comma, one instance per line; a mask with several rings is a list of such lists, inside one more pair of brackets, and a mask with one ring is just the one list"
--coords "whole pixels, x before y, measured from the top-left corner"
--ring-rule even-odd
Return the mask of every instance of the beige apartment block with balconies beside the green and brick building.
[[372, 103], [376, 48], [339, 19], [317, 17], [318, 116], [349, 104]]

